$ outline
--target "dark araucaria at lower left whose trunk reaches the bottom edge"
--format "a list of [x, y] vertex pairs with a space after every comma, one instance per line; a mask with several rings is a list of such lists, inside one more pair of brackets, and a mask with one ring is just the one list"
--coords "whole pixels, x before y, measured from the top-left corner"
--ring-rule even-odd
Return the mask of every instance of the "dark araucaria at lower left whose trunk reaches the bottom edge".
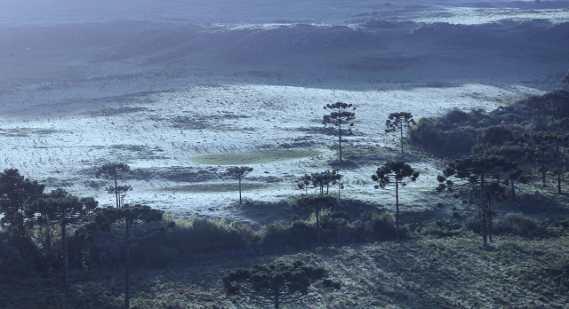
[[[125, 252], [124, 308], [129, 308], [131, 299], [131, 247], [164, 228], [159, 224], [162, 214], [161, 210], [140, 204], [124, 204], [121, 208], [108, 207], [95, 213], [95, 224], [103, 232], [97, 236], [98, 245]], [[153, 223], [156, 224], [152, 225]], [[168, 227], [172, 226], [173, 223]]]

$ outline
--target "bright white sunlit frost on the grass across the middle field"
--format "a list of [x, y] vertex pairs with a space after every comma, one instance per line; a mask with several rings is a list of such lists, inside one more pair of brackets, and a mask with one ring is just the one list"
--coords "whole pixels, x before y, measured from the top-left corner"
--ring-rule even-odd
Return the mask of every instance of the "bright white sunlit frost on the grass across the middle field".
[[[335, 155], [325, 147], [334, 145], [336, 137], [299, 130], [322, 128], [320, 121], [327, 103], [342, 101], [357, 107], [357, 139], [397, 147], [397, 140], [383, 133], [384, 121], [391, 112], [408, 111], [419, 119], [441, 115], [452, 108], [491, 110], [496, 107], [495, 98], [535, 93], [531, 88], [509, 84], [468, 83], [447, 88], [402, 85], [402, 90], [398, 90], [401, 87], [389, 84], [397, 90], [386, 91], [333, 91], [273, 85], [196, 86], [148, 95], [146, 100], [132, 105], [147, 109], [133, 113], [93, 116], [84, 114], [83, 109], [81, 113], [73, 113], [70, 106], [67, 115], [52, 118], [14, 116], [4, 121], [3, 131], [0, 131], [4, 134], [4, 166], [18, 168], [33, 179], [58, 178], [69, 191], [94, 195], [104, 205], [113, 203], [112, 194], [85, 183], [100, 180], [86, 170], [103, 162], [126, 162], [132, 169], [198, 167], [191, 161], [197, 155], [277, 147], [295, 138], [306, 138], [324, 147], [326, 155], [320, 159], [252, 164], [255, 169], [252, 176], [265, 176], [262, 172], [268, 171], [268, 175], [283, 178], [283, 181], [272, 183], [266, 189], [244, 192], [244, 197], [276, 202], [287, 194], [299, 193], [293, 190], [293, 177], [330, 168], [325, 161], [333, 160]], [[92, 112], [95, 111], [93, 108]], [[171, 120], [185, 116], [211, 127], [175, 128]], [[50, 131], [43, 133], [42, 129]], [[129, 147], [142, 147], [151, 154], [145, 157], [143, 152], [129, 150]], [[381, 162], [371, 163], [381, 165]], [[345, 173], [346, 178], [371, 177], [373, 168], [356, 174], [349, 170]], [[425, 173], [413, 186], [429, 190], [433, 181], [427, 175]], [[179, 186], [180, 182], [164, 179], [129, 180], [128, 183], [133, 190], [127, 194], [126, 202], [144, 202], [178, 214], [235, 216], [225, 207], [235, 201], [236, 193], [173, 193], [161, 189]], [[389, 192], [375, 191], [373, 185], [350, 186], [342, 194], [391, 204]], [[404, 202], [411, 201], [405, 201], [404, 197]]]

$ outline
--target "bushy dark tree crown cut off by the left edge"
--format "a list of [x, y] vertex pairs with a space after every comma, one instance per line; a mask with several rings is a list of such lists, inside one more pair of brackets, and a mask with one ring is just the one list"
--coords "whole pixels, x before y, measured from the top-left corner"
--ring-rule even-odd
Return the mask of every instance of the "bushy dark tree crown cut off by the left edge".
[[17, 169], [0, 172], [0, 225], [16, 234], [25, 234], [25, 209], [44, 195], [44, 185], [20, 175]]

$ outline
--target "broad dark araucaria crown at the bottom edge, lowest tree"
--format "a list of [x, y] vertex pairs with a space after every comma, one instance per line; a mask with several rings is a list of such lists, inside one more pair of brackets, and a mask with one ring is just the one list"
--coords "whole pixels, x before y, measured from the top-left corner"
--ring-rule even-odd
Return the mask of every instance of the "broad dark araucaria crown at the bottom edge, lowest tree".
[[[251, 269], [228, 270], [221, 278], [228, 295], [242, 294], [255, 305], [293, 304], [314, 297], [322, 289], [340, 289], [340, 282], [327, 279], [328, 272], [322, 267], [306, 266], [301, 261], [292, 265], [252, 265]], [[318, 281], [320, 283], [314, 287]]]

